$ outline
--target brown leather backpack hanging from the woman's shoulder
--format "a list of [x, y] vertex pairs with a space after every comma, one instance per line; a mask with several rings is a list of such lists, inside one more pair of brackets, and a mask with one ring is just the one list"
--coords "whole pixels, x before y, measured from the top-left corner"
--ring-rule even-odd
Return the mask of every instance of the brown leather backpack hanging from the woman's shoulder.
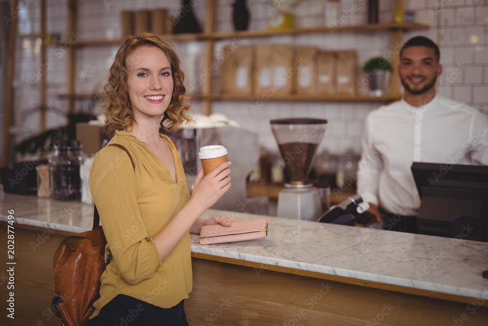
[[[110, 144], [129, 155], [120, 144]], [[100, 226], [97, 207], [93, 213], [93, 228], [76, 236], [66, 237], [54, 254], [54, 290], [58, 296], [52, 300], [54, 314], [65, 326], [86, 326], [93, 314], [93, 303], [100, 297], [100, 277], [110, 262], [111, 253], [105, 258], [107, 240]]]

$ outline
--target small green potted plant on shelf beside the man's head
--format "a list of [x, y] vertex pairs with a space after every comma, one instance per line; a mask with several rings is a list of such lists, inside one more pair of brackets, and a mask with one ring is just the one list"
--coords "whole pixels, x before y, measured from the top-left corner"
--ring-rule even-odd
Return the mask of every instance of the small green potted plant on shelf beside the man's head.
[[369, 95], [382, 96], [388, 93], [388, 82], [393, 67], [387, 59], [383, 57], [371, 58], [363, 65], [363, 71], [369, 80]]

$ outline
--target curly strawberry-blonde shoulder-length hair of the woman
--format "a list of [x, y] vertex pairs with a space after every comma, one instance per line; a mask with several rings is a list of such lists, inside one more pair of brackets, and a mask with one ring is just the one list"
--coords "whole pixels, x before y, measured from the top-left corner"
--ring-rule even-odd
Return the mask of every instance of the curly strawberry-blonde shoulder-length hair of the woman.
[[[175, 131], [191, 120], [188, 114], [190, 105], [184, 87], [184, 73], [180, 69], [180, 59], [174, 50], [173, 44], [163, 41], [153, 33], [142, 33], [140, 36], [129, 36], [117, 51], [115, 60], [110, 67], [108, 82], [104, 89], [104, 104], [102, 110], [105, 114], [105, 130], [113, 134], [115, 130], [130, 129], [134, 123], [134, 113], [127, 92], [127, 57], [140, 46], [157, 46], [163, 50], [171, 65], [173, 76], [173, 93], [171, 102], [163, 114], [161, 128]], [[164, 126], [163, 126], [164, 123]]]

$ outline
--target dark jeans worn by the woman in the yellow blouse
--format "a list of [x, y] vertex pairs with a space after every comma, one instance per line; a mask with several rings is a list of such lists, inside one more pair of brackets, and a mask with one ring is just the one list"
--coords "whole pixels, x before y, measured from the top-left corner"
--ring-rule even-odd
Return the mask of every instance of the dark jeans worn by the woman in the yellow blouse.
[[183, 300], [171, 308], [119, 294], [90, 320], [90, 326], [188, 326]]

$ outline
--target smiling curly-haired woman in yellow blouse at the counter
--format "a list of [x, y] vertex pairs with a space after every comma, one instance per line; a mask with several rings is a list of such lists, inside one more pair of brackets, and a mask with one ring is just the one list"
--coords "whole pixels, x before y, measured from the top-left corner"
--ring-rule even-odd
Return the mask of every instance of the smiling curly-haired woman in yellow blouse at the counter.
[[[201, 170], [190, 198], [178, 151], [159, 132], [163, 122], [176, 130], [190, 120], [183, 81], [175, 50], [151, 33], [127, 38], [110, 68], [102, 108], [115, 146], [96, 154], [89, 186], [112, 260], [90, 325], [119, 324], [133, 311], [132, 326], [188, 325], [189, 232], [233, 220], [199, 218], [230, 188], [230, 162], [205, 177]], [[155, 288], [161, 291], [148, 295]]]

